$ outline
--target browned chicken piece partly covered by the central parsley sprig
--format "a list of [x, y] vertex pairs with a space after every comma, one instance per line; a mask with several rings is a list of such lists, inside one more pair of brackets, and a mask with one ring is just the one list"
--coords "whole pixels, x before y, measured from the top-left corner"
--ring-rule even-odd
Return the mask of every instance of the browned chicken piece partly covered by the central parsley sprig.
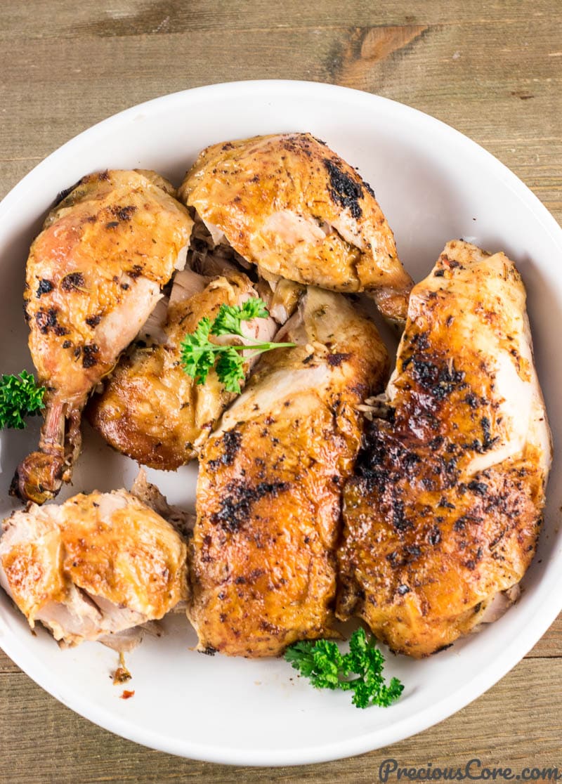
[[[201, 318], [216, 317], [221, 305], [241, 305], [257, 292], [239, 272], [205, 278], [192, 270], [176, 276], [161, 343], [140, 343], [123, 357], [103, 394], [90, 401], [87, 416], [118, 452], [145, 466], [176, 470], [198, 455], [219, 416], [234, 400], [215, 370], [203, 384], [187, 376], [181, 342]], [[270, 340], [273, 319], [244, 322], [248, 336]]]

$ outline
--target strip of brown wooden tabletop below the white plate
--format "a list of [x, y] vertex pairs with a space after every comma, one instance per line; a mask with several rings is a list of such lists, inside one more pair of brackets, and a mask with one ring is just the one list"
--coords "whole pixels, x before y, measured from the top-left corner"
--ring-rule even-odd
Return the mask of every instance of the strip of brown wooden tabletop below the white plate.
[[0, 782], [373, 782], [389, 757], [408, 767], [433, 761], [456, 768], [477, 757], [514, 771], [560, 768], [562, 715], [552, 688], [560, 679], [562, 660], [549, 662], [546, 679], [541, 660], [525, 659], [454, 717], [386, 749], [300, 768], [234, 768], [125, 742], [71, 713], [24, 674], [0, 674], [0, 738], [9, 764], [4, 760]]

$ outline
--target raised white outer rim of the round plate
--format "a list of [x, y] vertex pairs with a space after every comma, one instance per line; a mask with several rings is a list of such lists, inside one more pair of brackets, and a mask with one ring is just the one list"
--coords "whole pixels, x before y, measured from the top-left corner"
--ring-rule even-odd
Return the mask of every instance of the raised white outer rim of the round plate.
[[[301, 80], [288, 80], [288, 79], [256, 79], [256, 80], [242, 80], [235, 82], [219, 82], [212, 85], [201, 85], [198, 87], [179, 90], [174, 93], [168, 93], [163, 96], [137, 103], [132, 107], [119, 111], [117, 114], [112, 114], [110, 117], [91, 125], [89, 128], [78, 133], [66, 143], [63, 143], [56, 150], [47, 155], [38, 165], [34, 166], [22, 180], [5, 195], [5, 198], [0, 202], [0, 221], [6, 220], [10, 212], [16, 209], [21, 199], [27, 190], [27, 183], [29, 180], [34, 180], [38, 174], [44, 169], [49, 169], [61, 156], [66, 158], [67, 155], [72, 153], [74, 147], [78, 147], [85, 137], [91, 136], [100, 129], [111, 129], [114, 125], [119, 125], [129, 118], [133, 120], [135, 116], [143, 114], [144, 111], [152, 113], [154, 107], [163, 105], [164, 103], [181, 103], [184, 96], [194, 96], [197, 94], [205, 94], [209, 100], [216, 100], [216, 97], [227, 91], [240, 90], [242, 93], [263, 93], [267, 90], [272, 100], [282, 96], [297, 96], [299, 94], [315, 93], [316, 96], [324, 93], [325, 97], [335, 96], [336, 100], [341, 100], [343, 97], [353, 98], [354, 101], [363, 101], [365, 103], [380, 103], [381, 105], [392, 104], [392, 111], [398, 116], [401, 114], [404, 117], [415, 117], [418, 122], [426, 124], [428, 127], [437, 129], [437, 132], [444, 134], [451, 140], [452, 143], [461, 145], [463, 149], [477, 154], [478, 158], [486, 160], [488, 166], [495, 169], [496, 174], [502, 182], [513, 191], [513, 194], [524, 201], [529, 209], [535, 215], [535, 218], [541, 224], [543, 230], [549, 234], [549, 237], [555, 244], [560, 247], [562, 251], [562, 227], [557, 223], [557, 220], [550, 214], [542, 201], [531, 191], [531, 189], [520, 180], [520, 178], [512, 172], [505, 164], [495, 158], [489, 151], [480, 144], [470, 139], [462, 132], [456, 130], [451, 125], [434, 118], [430, 114], [426, 114], [419, 109], [410, 107], [405, 103], [379, 96], [373, 93], [366, 93], [362, 90], [351, 89], [339, 85], [332, 85], [326, 82], [311, 82]], [[552, 492], [552, 490], [551, 490]], [[562, 588], [562, 572], [557, 580], [557, 585]], [[42, 662], [29, 655], [29, 646], [24, 645], [23, 641], [16, 636], [13, 636], [9, 628], [6, 626], [2, 614], [0, 614], [0, 648], [13, 659], [17, 666], [20, 666], [28, 677], [41, 686], [45, 691], [49, 692], [55, 699], [62, 702], [63, 705], [71, 708], [74, 713], [91, 720], [100, 727], [113, 732], [116, 735], [131, 740], [132, 742], [141, 743], [144, 746], [155, 750], [172, 753], [180, 757], [188, 757], [194, 760], [207, 761], [220, 764], [244, 764], [251, 766], [281, 766], [281, 765], [302, 765], [314, 764], [319, 762], [326, 762], [330, 760], [343, 759], [345, 757], [354, 756], [368, 751], [381, 749], [385, 746], [398, 742], [402, 739], [416, 735], [421, 731], [430, 728], [434, 724], [457, 713], [466, 705], [473, 702], [485, 691], [488, 691], [491, 686], [504, 677], [514, 666], [520, 662], [521, 659], [528, 653], [528, 651], [536, 644], [542, 635], [548, 630], [549, 626], [560, 614], [562, 609], [562, 590], [560, 590], [560, 600], [558, 604], [553, 601], [551, 604], [543, 604], [541, 608], [537, 608], [537, 612], [533, 617], [531, 625], [527, 627], [524, 641], [520, 638], [513, 637], [509, 646], [503, 650], [500, 659], [492, 661], [489, 666], [485, 667], [477, 676], [467, 681], [461, 688], [453, 693], [453, 695], [446, 695], [440, 702], [432, 703], [422, 711], [418, 711], [412, 716], [405, 717], [393, 724], [384, 728], [377, 728], [372, 731], [365, 732], [362, 735], [357, 735], [354, 739], [344, 739], [340, 742], [330, 742], [329, 744], [321, 746], [306, 746], [306, 748], [294, 748], [278, 750], [275, 748], [268, 749], [255, 749], [250, 753], [248, 750], [235, 750], [227, 749], [221, 750], [219, 746], [204, 745], [199, 742], [191, 742], [190, 739], [182, 739], [181, 742], [176, 739], [169, 739], [164, 735], [155, 734], [152, 730], [140, 728], [137, 725], [130, 724], [130, 721], [125, 717], [120, 717], [118, 714], [112, 713], [109, 709], [102, 709], [95, 704], [87, 702], [85, 705], [82, 703], [79, 695], [69, 690], [65, 693], [64, 688], [59, 688], [60, 684], [53, 684], [52, 678], [49, 678], [49, 671], [46, 670]], [[33, 674], [30, 674], [30, 671]]]

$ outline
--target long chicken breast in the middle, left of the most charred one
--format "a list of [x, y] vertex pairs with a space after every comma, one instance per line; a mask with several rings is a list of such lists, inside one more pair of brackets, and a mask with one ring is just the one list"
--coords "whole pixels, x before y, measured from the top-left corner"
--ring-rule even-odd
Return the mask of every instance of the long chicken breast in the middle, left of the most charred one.
[[356, 406], [386, 380], [375, 326], [310, 287], [203, 451], [188, 617], [199, 647], [274, 656], [332, 631], [343, 481], [361, 440]]

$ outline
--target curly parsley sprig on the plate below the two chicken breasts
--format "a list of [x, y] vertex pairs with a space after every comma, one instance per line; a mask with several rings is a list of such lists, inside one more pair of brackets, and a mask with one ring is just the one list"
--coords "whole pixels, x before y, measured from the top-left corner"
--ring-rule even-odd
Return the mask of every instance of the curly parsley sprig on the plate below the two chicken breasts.
[[[306, 640], [290, 645], [285, 651], [285, 659], [309, 678], [314, 688], [353, 691], [351, 702], [357, 708], [388, 707], [404, 691], [397, 678], [391, 678], [390, 684], [385, 683], [384, 656], [374, 638], [367, 638], [364, 629], [357, 629], [351, 635], [349, 653], [342, 654], [335, 642]], [[357, 677], [350, 678], [351, 675]]]

